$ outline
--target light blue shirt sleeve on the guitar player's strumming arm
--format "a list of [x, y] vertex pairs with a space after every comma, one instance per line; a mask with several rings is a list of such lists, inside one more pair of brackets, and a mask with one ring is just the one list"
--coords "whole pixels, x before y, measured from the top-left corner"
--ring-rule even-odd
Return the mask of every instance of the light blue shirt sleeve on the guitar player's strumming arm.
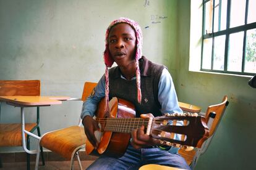
[[83, 102], [81, 118], [85, 116], [94, 116], [97, 109], [98, 102], [105, 97], [105, 75], [103, 75], [98, 82], [93, 92], [89, 95], [87, 100]]

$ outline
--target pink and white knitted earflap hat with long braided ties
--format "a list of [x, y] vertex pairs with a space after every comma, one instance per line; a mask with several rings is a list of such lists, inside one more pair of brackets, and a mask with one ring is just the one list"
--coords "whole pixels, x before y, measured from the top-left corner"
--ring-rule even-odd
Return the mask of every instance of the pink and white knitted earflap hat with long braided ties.
[[106, 65], [105, 70], [105, 80], [106, 80], [106, 86], [105, 86], [105, 111], [109, 111], [108, 102], [109, 102], [109, 78], [108, 78], [108, 68], [112, 67], [114, 60], [112, 59], [111, 55], [109, 54], [108, 49], [108, 36], [109, 31], [111, 28], [113, 28], [114, 25], [117, 23], [127, 23], [135, 31], [136, 36], [136, 52], [135, 52], [135, 66], [136, 66], [136, 80], [137, 80], [137, 100], [140, 103], [142, 100], [142, 92], [140, 89], [140, 68], [139, 68], [139, 59], [142, 57], [142, 30], [137, 22], [134, 20], [130, 20], [129, 18], [119, 18], [117, 20], [114, 20], [110, 23], [108, 26], [108, 29], [106, 30], [106, 45], [105, 45], [105, 51], [104, 51], [104, 62]]

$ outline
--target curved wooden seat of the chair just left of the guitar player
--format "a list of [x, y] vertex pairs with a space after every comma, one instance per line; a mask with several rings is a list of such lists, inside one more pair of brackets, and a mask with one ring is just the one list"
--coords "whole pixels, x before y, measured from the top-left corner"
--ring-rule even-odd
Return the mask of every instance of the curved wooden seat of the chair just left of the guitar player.
[[70, 126], [46, 133], [40, 145], [70, 160], [77, 150], [85, 147], [85, 140], [83, 127]]

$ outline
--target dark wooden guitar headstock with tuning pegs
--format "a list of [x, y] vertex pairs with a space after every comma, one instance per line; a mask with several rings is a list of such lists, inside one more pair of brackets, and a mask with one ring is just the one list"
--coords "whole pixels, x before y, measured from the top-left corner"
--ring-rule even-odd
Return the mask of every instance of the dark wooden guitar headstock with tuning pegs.
[[[150, 134], [164, 145], [200, 148], [208, 139], [209, 130], [203, 116], [175, 113], [154, 118]], [[179, 135], [180, 140], [174, 139], [175, 135]]]

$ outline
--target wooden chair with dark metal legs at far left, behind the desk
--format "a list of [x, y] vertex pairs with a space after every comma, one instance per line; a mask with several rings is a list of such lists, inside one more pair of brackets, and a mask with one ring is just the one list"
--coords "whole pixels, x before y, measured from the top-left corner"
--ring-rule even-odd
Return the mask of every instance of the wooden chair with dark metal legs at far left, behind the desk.
[[[14, 96], [14, 95], [40, 95], [40, 80], [0, 80], [0, 96]], [[25, 123], [25, 129], [33, 132], [37, 130], [38, 136], [40, 134], [40, 109], [36, 108], [36, 123]], [[1, 102], [0, 102], [0, 118], [1, 118]], [[27, 136], [27, 148], [30, 148], [30, 136]], [[5, 123], [0, 124], [0, 147], [17, 147], [22, 146], [22, 132], [21, 123]], [[41, 156], [43, 164], [43, 148], [41, 147]], [[27, 153], [27, 169], [30, 169], [30, 154]]]

